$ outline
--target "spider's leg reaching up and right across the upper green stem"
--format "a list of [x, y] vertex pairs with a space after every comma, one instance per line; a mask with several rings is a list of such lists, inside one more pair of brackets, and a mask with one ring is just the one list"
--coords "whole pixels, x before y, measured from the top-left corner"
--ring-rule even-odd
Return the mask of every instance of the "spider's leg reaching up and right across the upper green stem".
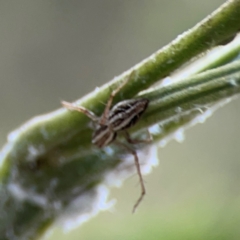
[[108, 115], [109, 115], [109, 111], [110, 111], [110, 108], [112, 106], [112, 101], [114, 99], [114, 97], [116, 96], [116, 94], [126, 85], [126, 83], [132, 78], [133, 74], [135, 73], [135, 71], [132, 71], [130, 73], [130, 75], [128, 77], [126, 77], [126, 79], [118, 86], [118, 88], [116, 88], [114, 91], [112, 91], [109, 99], [108, 99], [108, 102], [106, 104], [106, 107], [104, 109], [104, 112], [101, 116], [101, 120], [100, 120], [100, 123], [99, 124], [102, 124], [104, 125], [105, 122], [107, 121], [107, 118], [108, 118]]

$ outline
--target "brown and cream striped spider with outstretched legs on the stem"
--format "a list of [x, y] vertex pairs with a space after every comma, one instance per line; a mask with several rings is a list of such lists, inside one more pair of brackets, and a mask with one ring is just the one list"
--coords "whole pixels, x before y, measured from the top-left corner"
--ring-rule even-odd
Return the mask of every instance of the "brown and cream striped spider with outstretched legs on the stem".
[[111, 108], [115, 95], [126, 85], [126, 83], [131, 78], [131, 76], [132, 76], [132, 73], [125, 81], [123, 81], [122, 84], [118, 86], [117, 89], [115, 89], [111, 93], [109, 100], [106, 104], [106, 107], [104, 109], [104, 112], [100, 117], [96, 116], [93, 112], [91, 112], [90, 110], [84, 107], [76, 106], [69, 102], [62, 101], [62, 105], [67, 109], [84, 113], [86, 116], [88, 116], [92, 121], [96, 123], [96, 129], [92, 136], [92, 143], [94, 145], [96, 145], [99, 148], [103, 148], [105, 146], [108, 146], [112, 142], [114, 142], [118, 145], [121, 145], [125, 149], [127, 149], [127, 151], [134, 156], [134, 161], [135, 161], [137, 173], [140, 180], [140, 186], [141, 186], [140, 197], [138, 198], [138, 200], [133, 206], [133, 213], [134, 213], [138, 205], [142, 201], [144, 195], [146, 194], [143, 177], [141, 174], [141, 168], [140, 168], [136, 151], [131, 147], [129, 147], [128, 145], [117, 141], [116, 137], [119, 132], [122, 132], [125, 139], [130, 144], [137, 144], [137, 143], [151, 141], [150, 135], [149, 135], [149, 139], [137, 140], [137, 139], [131, 139], [129, 133], [127, 132], [127, 129], [135, 125], [135, 123], [139, 120], [141, 115], [147, 109], [149, 100], [146, 98], [124, 100], [117, 103], [115, 106]]

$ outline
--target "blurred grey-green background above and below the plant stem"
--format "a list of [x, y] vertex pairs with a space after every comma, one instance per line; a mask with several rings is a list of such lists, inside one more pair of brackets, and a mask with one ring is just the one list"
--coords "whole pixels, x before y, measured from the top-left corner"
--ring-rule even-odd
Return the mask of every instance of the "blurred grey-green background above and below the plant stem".
[[[73, 101], [167, 44], [223, 0], [0, 2], [0, 145], [29, 118]], [[113, 189], [112, 211], [48, 239], [240, 239], [240, 101], [159, 149], [145, 176]]]

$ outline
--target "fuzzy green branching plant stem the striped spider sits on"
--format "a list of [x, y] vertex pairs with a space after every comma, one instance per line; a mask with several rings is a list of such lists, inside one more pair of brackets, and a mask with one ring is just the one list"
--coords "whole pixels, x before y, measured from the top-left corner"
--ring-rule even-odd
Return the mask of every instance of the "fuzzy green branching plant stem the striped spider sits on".
[[[77, 104], [100, 114], [103, 106], [99, 103], [106, 102], [110, 92], [133, 70], [129, 84], [115, 102], [136, 96], [239, 29], [240, 1], [227, 1], [181, 37]], [[133, 133], [162, 121], [163, 132], [155, 139], [168, 136], [199, 115], [199, 105], [203, 110], [238, 94], [239, 75], [236, 62], [181, 83], [150, 89], [142, 96], [151, 104]], [[94, 205], [96, 187], [120, 160], [118, 148], [113, 147], [112, 153], [93, 148], [88, 124], [83, 114], [60, 109], [30, 120], [9, 135], [0, 155], [1, 240], [36, 239], [78, 198], [92, 196], [88, 207]], [[78, 209], [85, 208], [80, 204]]]

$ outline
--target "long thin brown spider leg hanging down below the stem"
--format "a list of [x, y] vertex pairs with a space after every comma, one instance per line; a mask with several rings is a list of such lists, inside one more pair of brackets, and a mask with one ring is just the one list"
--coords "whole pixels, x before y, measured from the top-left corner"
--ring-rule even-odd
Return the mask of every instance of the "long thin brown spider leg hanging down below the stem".
[[142, 177], [142, 173], [141, 173], [141, 168], [140, 168], [140, 164], [139, 164], [139, 160], [138, 160], [138, 155], [137, 155], [135, 150], [133, 150], [132, 148], [130, 148], [126, 144], [124, 144], [122, 142], [119, 142], [119, 141], [115, 141], [114, 143], [124, 147], [125, 149], [127, 149], [128, 152], [130, 152], [134, 156], [135, 166], [137, 168], [137, 174], [138, 174], [139, 181], [140, 181], [140, 186], [141, 186], [140, 197], [137, 199], [136, 203], [133, 206], [132, 212], [134, 213], [135, 210], [137, 209], [138, 205], [140, 204], [140, 202], [143, 200], [144, 195], [146, 194], [144, 181], [143, 181], [143, 177]]

